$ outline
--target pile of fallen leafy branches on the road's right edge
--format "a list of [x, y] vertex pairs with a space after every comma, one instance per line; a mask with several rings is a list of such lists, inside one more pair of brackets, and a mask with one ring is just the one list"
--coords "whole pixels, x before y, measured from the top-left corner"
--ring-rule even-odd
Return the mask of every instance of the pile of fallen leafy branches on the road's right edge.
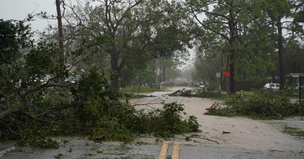
[[[284, 91], [284, 90], [283, 90]], [[241, 98], [230, 99], [222, 106], [214, 103], [207, 115], [246, 116], [259, 119], [281, 119], [286, 116], [304, 115], [304, 103], [292, 104], [290, 99], [280, 92], [271, 89], [261, 89], [247, 100]]]

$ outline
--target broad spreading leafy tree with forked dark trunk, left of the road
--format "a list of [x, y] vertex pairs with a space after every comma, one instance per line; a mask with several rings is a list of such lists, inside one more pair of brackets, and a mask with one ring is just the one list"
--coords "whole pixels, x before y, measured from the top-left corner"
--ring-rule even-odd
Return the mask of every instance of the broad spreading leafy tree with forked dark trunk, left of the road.
[[171, 57], [191, 47], [188, 31], [193, 22], [180, 2], [102, 0], [96, 6], [91, 2], [68, 5], [65, 39], [70, 45], [102, 39], [98, 47], [114, 73], [112, 88], [118, 87], [124, 66], [139, 70], [157, 56]]

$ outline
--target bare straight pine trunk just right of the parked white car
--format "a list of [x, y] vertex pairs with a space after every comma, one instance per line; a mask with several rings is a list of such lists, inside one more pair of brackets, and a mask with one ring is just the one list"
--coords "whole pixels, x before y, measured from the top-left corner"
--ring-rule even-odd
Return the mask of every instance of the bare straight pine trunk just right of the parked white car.
[[279, 53], [279, 70], [280, 70], [280, 90], [284, 88], [284, 68], [283, 68], [283, 42], [282, 42], [282, 24], [278, 20], [278, 53]]

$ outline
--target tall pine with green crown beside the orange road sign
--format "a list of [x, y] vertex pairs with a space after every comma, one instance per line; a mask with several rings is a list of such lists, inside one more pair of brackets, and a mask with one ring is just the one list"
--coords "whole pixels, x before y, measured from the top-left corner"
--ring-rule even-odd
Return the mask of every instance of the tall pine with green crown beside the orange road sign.
[[[263, 20], [259, 19], [263, 14], [255, 2], [251, 1], [214, 1], [214, 0], [188, 0], [187, 8], [202, 31], [199, 31], [201, 50], [210, 51], [209, 47], [219, 49], [225, 45], [224, 52], [227, 55], [230, 72], [230, 91], [235, 93], [235, 67], [242, 64], [249, 68], [250, 65], [260, 65], [252, 61], [254, 57], [261, 56], [261, 48], [268, 47], [267, 38], [262, 36], [264, 29], [259, 28]], [[213, 7], [213, 10], [209, 8]], [[200, 19], [198, 15], [206, 15], [206, 19]], [[261, 45], [264, 43], [264, 45]], [[208, 54], [209, 52], [207, 52]], [[242, 58], [244, 59], [242, 59]], [[263, 67], [264, 64], [261, 65]], [[226, 70], [228, 68], [226, 67]]]

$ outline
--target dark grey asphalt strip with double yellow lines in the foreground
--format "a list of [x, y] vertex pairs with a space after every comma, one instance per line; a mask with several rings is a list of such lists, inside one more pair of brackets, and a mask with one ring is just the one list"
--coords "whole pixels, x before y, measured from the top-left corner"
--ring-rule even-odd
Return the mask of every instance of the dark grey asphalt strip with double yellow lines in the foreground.
[[[236, 147], [214, 146], [212, 144], [159, 143], [124, 144], [118, 142], [94, 143], [86, 139], [71, 139], [59, 149], [22, 148], [22, 152], [9, 152], [4, 159], [224, 159], [224, 158], [265, 158], [302, 159], [303, 153], [280, 151], [256, 151]], [[164, 146], [164, 145], [167, 145]], [[71, 148], [71, 149], [70, 149]], [[70, 150], [72, 150], [70, 152]], [[162, 153], [163, 152], [163, 153]]]

